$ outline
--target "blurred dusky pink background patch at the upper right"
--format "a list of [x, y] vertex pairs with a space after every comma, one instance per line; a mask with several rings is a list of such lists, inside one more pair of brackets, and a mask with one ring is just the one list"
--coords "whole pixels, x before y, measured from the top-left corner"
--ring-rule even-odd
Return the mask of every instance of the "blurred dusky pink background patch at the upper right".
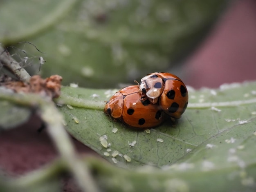
[[256, 1], [234, 2], [184, 70], [184, 83], [195, 88], [256, 80]]

